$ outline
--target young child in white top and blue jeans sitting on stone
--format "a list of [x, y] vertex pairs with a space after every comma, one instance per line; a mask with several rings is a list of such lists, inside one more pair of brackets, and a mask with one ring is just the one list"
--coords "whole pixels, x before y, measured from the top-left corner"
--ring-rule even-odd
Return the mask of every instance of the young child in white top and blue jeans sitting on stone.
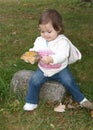
[[80, 92], [68, 68], [70, 47], [67, 37], [63, 35], [61, 15], [54, 9], [44, 11], [39, 19], [39, 31], [41, 36], [35, 40], [30, 51], [38, 52], [41, 58], [38, 61], [38, 69], [29, 81], [23, 109], [32, 111], [37, 108], [40, 88], [49, 80], [61, 83], [82, 107], [93, 109], [93, 104]]

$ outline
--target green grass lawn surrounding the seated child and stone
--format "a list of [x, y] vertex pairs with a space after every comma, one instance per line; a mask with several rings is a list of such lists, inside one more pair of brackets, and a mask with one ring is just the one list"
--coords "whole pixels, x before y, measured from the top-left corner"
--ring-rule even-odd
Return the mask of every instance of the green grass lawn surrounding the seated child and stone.
[[65, 35], [83, 55], [70, 68], [81, 91], [93, 101], [93, 7], [80, 5], [79, 0], [0, 0], [0, 130], [93, 130], [93, 119], [85, 109], [55, 113], [53, 104], [40, 100], [39, 107], [27, 113], [23, 99], [10, 94], [14, 73], [37, 67], [20, 56], [33, 46], [39, 35], [38, 18], [47, 8], [62, 14]]

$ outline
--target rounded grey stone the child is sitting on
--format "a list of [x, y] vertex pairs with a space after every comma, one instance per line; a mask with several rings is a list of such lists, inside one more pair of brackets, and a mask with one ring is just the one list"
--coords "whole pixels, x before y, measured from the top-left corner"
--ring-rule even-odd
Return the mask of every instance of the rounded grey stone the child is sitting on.
[[[20, 70], [16, 72], [11, 80], [11, 92], [17, 94], [18, 97], [25, 97], [28, 89], [28, 83], [31, 75], [34, 74], [32, 70]], [[40, 90], [40, 99], [50, 102], [61, 102], [66, 94], [64, 86], [55, 81], [49, 81], [43, 84]]]

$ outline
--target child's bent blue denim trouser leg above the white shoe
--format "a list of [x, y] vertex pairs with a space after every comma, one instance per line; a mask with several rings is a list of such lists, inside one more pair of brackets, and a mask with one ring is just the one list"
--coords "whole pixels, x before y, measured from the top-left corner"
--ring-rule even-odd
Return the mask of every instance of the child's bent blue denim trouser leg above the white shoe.
[[46, 81], [47, 77], [44, 76], [43, 72], [40, 69], [37, 69], [29, 81], [28, 93], [25, 99], [27, 103], [38, 103], [40, 88]]

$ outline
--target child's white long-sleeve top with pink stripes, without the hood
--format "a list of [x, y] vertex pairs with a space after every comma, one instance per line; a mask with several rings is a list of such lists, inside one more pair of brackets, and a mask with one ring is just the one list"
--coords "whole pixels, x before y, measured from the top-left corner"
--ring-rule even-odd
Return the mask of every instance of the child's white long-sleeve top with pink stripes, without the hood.
[[55, 40], [47, 42], [40, 36], [35, 40], [33, 48], [29, 49], [38, 52], [41, 57], [50, 55], [53, 58], [51, 64], [44, 64], [41, 60], [38, 62], [45, 76], [50, 77], [67, 67], [70, 47], [66, 39], [66, 36], [59, 35]]

